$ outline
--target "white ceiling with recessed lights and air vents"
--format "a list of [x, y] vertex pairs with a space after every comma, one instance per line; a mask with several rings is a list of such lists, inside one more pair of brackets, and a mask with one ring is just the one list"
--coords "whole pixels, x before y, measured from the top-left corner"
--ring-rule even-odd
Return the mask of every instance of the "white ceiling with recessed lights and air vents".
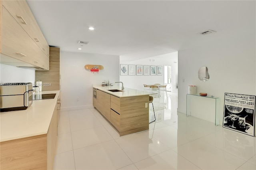
[[[255, 32], [255, 1], [27, 0], [49, 45], [132, 61]], [[248, 28], [248, 25], [252, 25]], [[90, 26], [94, 31], [88, 30]], [[254, 30], [253, 30], [254, 29]], [[216, 33], [202, 36], [205, 30]], [[90, 42], [78, 50], [78, 41]]]

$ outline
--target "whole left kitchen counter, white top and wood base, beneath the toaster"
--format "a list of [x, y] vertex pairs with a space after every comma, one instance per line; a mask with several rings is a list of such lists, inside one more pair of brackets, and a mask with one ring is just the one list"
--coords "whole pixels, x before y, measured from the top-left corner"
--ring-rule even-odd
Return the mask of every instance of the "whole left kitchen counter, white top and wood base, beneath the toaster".
[[[52, 169], [57, 140], [57, 100], [35, 100], [26, 110], [0, 114], [1, 169]], [[40, 92], [41, 93], [41, 92]]]

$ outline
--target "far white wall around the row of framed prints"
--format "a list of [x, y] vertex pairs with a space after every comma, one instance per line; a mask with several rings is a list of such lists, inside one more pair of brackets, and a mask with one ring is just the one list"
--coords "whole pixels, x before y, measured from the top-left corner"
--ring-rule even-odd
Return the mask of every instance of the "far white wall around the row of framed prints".
[[130, 62], [120, 61], [120, 64], [155, 65], [163, 67], [162, 75], [120, 75], [120, 81], [124, 83], [124, 87], [139, 90], [144, 89], [143, 84], [164, 84], [164, 65], [172, 66], [172, 92], [177, 92], [176, 82], [178, 82], [178, 52], [157, 55], [155, 57], [144, 58]]

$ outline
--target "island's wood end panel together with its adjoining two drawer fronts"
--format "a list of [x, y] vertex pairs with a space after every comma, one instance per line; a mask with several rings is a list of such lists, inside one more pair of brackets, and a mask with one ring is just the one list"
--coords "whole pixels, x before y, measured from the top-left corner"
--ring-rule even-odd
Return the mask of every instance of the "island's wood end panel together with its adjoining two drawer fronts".
[[122, 98], [111, 95], [113, 111], [110, 123], [120, 136], [148, 129], [149, 110], [145, 108], [145, 103], [149, 103], [148, 95]]

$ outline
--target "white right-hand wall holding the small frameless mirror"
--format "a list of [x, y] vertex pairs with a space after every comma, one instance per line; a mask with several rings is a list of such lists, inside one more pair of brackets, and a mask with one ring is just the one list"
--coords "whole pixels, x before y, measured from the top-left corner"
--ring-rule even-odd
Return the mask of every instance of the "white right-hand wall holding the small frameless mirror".
[[[206, 35], [208, 37], [205, 36], [197, 46], [192, 45], [178, 51], [179, 112], [186, 113], [188, 85], [196, 85], [197, 93], [220, 98], [220, 125], [223, 119], [224, 93], [256, 95], [255, 16], [251, 25], [245, 26], [250, 34], [234, 30], [226, 35], [217, 32], [212, 36]], [[205, 82], [198, 79], [198, 69], [202, 66], [208, 67], [210, 75], [210, 79]], [[207, 110], [204, 112], [207, 113]]]

